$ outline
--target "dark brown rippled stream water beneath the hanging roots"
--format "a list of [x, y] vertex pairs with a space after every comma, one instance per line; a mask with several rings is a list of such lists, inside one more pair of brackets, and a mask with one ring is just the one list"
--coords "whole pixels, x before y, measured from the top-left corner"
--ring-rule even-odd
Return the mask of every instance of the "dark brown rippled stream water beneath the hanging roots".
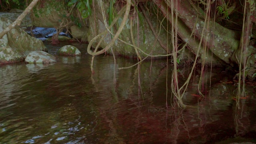
[[[174, 109], [172, 66], [166, 67], [166, 59], [117, 70], [114, 83], [112, 56], [96, 56], [95, 74], [91, 76], [92, 57], [86, 54], [87, 45], [73, 45], [82, 56], [56, 56], [61, 45], [46, 44], [57, 63], [0, 65], [0, 144], [255, 142], [254, 85], [246, 85], [249, 98], [242, 100], [237, 110], [232, 99], [236, 82], [218, 69], [212, 73], [208, 70], [203, 80], [206, 97], [198, 98], [194, 94], [200, 71], [195, 70], [183, 97], [188, 107]], [[135, 63], [117, 58], [117, 68]], [[188, 66], [180, 68], [180, 82], [186, 80], [189, 71]]]

